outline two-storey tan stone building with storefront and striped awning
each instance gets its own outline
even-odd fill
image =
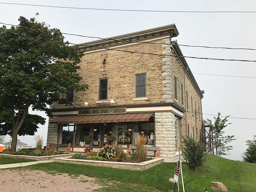
[[[178,35],[171,24],[79,44],[84,55],[78,73],[89,90],[67,90],[73,105],[50,106],[47,144],[71,143],[72,151],[110,143],[126,149],[143,134],[148,146],[160,147],[160,157],[172,159],[182,135],[201,139],[204,91],[172,41]]]

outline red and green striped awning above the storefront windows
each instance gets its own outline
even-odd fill
[[[53,119],[50,124],[86,124],[86,123],[112,123],[148,121],[153,113],[126,113],[113,115],[87,115],[87,116],[60,116]]]

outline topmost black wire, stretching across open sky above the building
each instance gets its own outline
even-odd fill
[[[64,7],[64,6],[51,6],[51,5],[36,5],[36,4],[19,4],[19,3],[3,3],[12,5],[28,5],[38,7],[54,7],[66,9],[85,9],[85,10],[99,10],[99,11],[125,11],[125,12],[179,12],[179,13],[256,13],[256,11],[164,11],[164,10],[137,10],[137,9],[103,9],[103,8],[85,8],[85,7]]]

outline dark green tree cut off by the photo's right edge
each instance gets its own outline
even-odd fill
[[[253,140],[246,140],[246,145],[248,148],[243,153],[243,160],[249,163],[256,163],[256,135],[254,135]]]

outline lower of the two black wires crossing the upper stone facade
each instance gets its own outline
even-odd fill
[[[3,31],[0,30],[2,32],[8,32],[8,33],[12,33],[15,35],[20,35],[20,36],[27,36],[27,37],[31,37],[31,38],[36,38],[36,39],[42,39],[42,40],[47,40],[47,41],[54,41],[54,42],[59,42],[59,43],[63,43],[61,41],[56,41],[56,40],[52,40],[52,39],[44,39],[41,37],[35,37],[35,36],[28,36],[28,35],[23,35],[23,34],[19,34],[19,33],[13,33],[10,31]],[[93,47],[93,48],[99,48],[96,46],[92,46],[92,45],[81,45],[81,44],[74,44],[74,43],[70,43],[70,42],[64,42],[66,44],[73,44],[73,45],[77,45],[77,46],[86,46],[86,47]],[[256,60],[236,60],[236,59],[220,59],[220,58],[206,58],[206,57],[191,57],[191,56],[176,56],[176,55],[168,55],[168,54],[156,54],[156,53],[147,53],[147,52],[133,52],[133,51],[126,51],[126,50],[120,50],[120,49],[110,49],[110,48],[105,48],[105,47],[100,47],[99,49],[106,49],[106,50],[112,50],[112,51],[121,51],[121,52],[128,52],[128,53],[138,53],[138,54],[148,54],[148,55],[156,55],[156,56],[168,56],[168,57],[177,57],[177,58],[192,58],[192,59],[205,59],[205,60],[219,60],[219,61],[244,61],[244,62],[256,62]]]

